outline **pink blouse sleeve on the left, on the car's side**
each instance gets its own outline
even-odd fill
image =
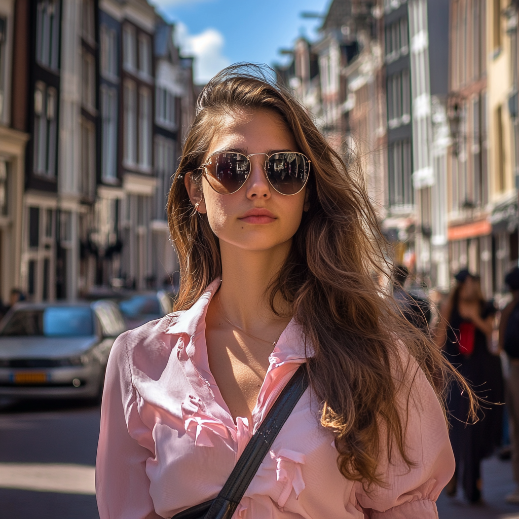
[[[127,332],[116,339],[106,367],[95,463],[100,519],[160,517],[149,495],[146,460],[155,455],[151,431],[137,410],[128,360],[130,334]]]

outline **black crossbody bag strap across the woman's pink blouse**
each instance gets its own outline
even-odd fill
[[[260,428],[249,440],[220,494],[211,501],[197,504],[175,514],[171,519],[230,519],[260,468],[272,442],[307,387],[306,365],[302,364],[281,391]]]

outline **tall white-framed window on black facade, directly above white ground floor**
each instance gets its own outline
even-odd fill
[[[57,91],[37,81],[34,89],[34,173],[56,176]]]

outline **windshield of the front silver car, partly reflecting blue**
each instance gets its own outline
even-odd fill
[[[88,307],[49,307],[16,310],[0,335],[80,337],[93,335],[92,310]]]

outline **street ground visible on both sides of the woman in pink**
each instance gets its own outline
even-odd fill
[[[0,403],[0,519],[99,518],[99,411],[77,401]],[[483,481],[484,505],[441,495],[440,519],[519,519],[519,506],[504,502],[514,488],[510,461],[485,460]]]

